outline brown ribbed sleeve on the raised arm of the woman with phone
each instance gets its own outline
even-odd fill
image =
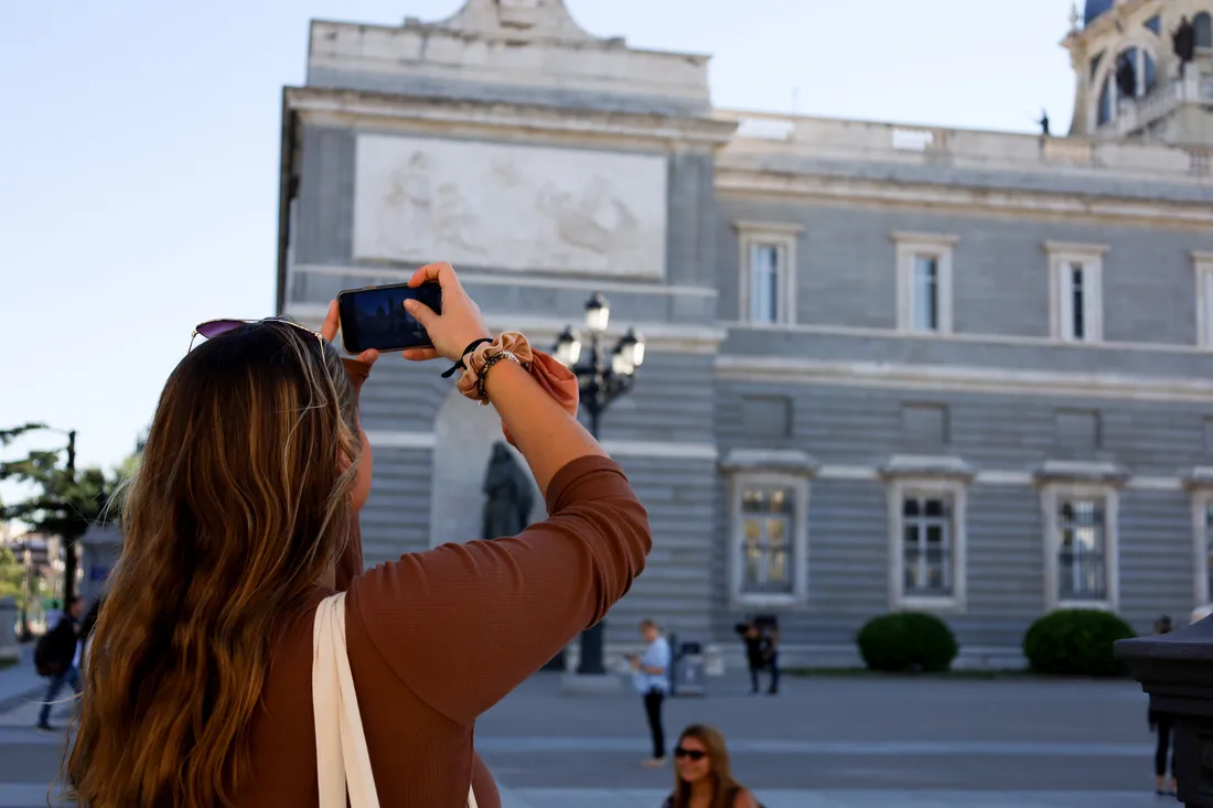
[[[400,681],[471,723],[594,625],[653,546],[622,470],[581,457],[547,490],[551,517],[517,536],[410,553],[357,579],[347,609]]]

